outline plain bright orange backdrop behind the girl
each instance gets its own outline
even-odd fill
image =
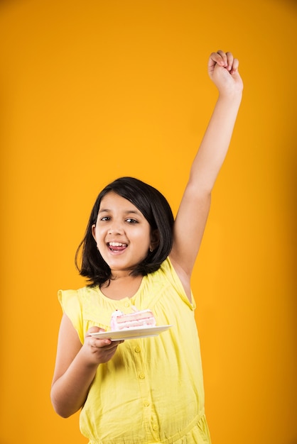
[[[244,99],[193,277],[213,444],[296,444],[296,1],[11,0],[0,6],[0,444],[86,443],[50,382],[60,288],[99,190],[173,211],[216,91]],[[133,421],[133,418],[131,418]]]

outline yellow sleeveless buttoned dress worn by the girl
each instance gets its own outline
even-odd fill
[[[91,326],[110,330],[116,309],[151,309],[158,326],[152,338],[126,340],[99,365],[80,413],[89,444],[210,444],[204,411],[195,303],[190,304],[169,259],[142,279],[133,297],[114,301],[98,287],[60,290],[63,311],[84,342]]]

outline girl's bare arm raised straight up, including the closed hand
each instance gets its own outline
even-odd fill
[[[175,220],[170,254],[188,296],[190,275],[205,229],[212,188],[225,160],[242,99],[243,84],[238,65],[231,52],[223,51],[212,52],[208,62],[208,73],[219,96],[190,170]]]

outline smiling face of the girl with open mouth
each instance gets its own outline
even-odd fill
[[[92,235],[113,275],[133,270],[158,245],[158,236],[141,211],[114,192],[102,199]]]

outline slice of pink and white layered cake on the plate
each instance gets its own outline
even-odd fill
[[[112,331],[126,330],[127,328],[137,327],[154,327],[156,319],[153,312],[147,310],[137,310],[132,306],[133,313],[124,314],[122,311],[116,310],[112,313],[110,328]]]

